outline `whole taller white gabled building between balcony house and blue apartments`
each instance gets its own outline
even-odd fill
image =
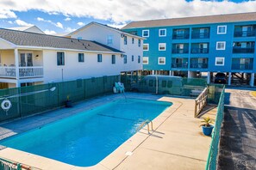
[[[143,39],[140,36],[123,32],[97,22],[91,22],[66,37],[97,41],[105,46],[113,47],[123,53],[122,71],[134,72],[142,70]],[[139,61],[139,62],[138,62]]]

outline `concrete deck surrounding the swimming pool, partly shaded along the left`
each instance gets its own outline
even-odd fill
[[[203,136],[198,127],[200,119],[194,118],[194,100],[133,93],[128,93],[127,97],[170,101],[173,105],[153,119],[150,134],[147,134],[145,126],[96,166],[75,167],[9,148],[0,150],[0,157],[40,169],[204,169],[211,138]],[[123,96],[103,96],[80,102],[73,108],[0,124],[0,139],[39,128],[118,98]],[[215,109],[209,115],[215,117]]]

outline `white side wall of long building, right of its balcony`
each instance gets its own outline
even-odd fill
[[[71,81],[94,76],[114,76],[122,71],[122,58],[116,54],[116,64],[111,63],[112,54],[104,54],[103,62],[97,62],[97,53],[84,53],[84,63],[78,62],[78,52],[65,52],[65,65],[57,65],[58,51],[43,51],[44,83]],[[63,77],[63,79],[62,79]]]

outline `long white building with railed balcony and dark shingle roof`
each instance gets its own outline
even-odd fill
[[[142,46],[136,50],[142,56]],[[124,52],[97,41],[0,28],[0,88],[141,70],[142,62],[126,59]]]

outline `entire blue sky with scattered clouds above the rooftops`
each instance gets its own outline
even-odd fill
[[[254,0],[1,0],[0,27],[36,25],[46,33],[70,33],[91,21],[122,27],[129,21],[254,11]]]

